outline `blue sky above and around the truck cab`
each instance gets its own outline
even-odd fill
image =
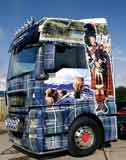
[[[112,35],[116,86],[126,86],[125,0],[0,0],[0,79],[5,79],[14,32],[29,17],[84,19],[105,17]]]

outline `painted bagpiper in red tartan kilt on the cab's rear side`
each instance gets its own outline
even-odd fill
[[[99,30],[100,27],[95,24],[85,25],[85,43],[87,44],[88,62],[91,70],[91,88],[95,90],[97,101],[96,112],[107,112],[106,98],[108,95],[113,96],[111,59],[109,55],[111,49],[109,35]]]

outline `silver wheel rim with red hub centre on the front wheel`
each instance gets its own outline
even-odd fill
[[[92,128],[84,126],[76,130],[74,139],[80,149],[88,149],[94,144],[95,134]]]

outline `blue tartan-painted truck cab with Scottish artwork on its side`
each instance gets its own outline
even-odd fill
[[[15,146],[36,155],[86,156],[117,139],[105,18],[28,20],[9,53],[5,124]]]

